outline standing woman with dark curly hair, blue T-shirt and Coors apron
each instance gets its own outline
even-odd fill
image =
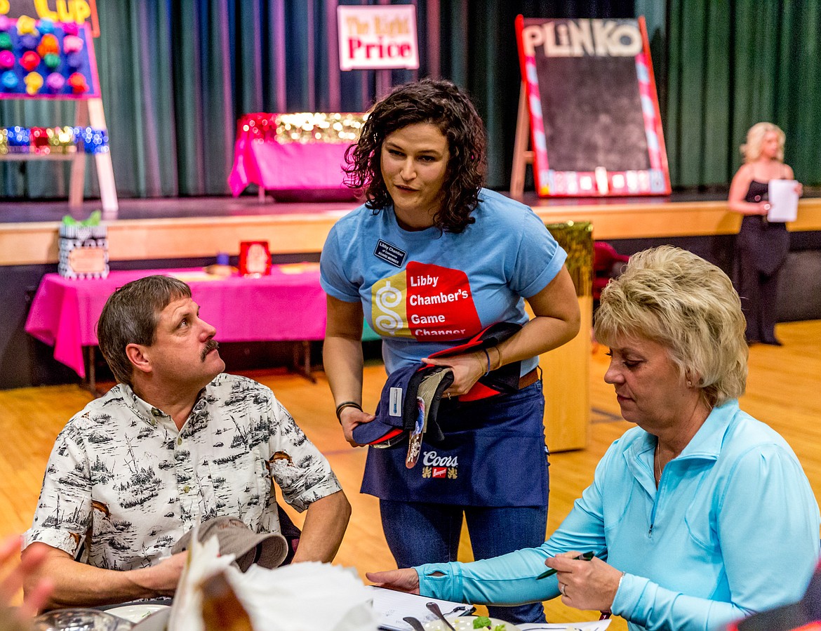
[[[389,375],[423,363],[452,371],[438,406],[444,439],[422,443],[422,466],[406,466],[408,449],[369,449],[362,492],[380,500],[399,567],[456,560],[463,516],[477,559],[544,541],[548,461],[536,366],[540,353],[576,335],[579,308],[566,253],[544,223],[482,188],[486,144],[456,85],[399,86],[374,105],[348,150],[346,183],[364,192],[365,205],[340,219],[323,247],[323,358],[352,446],[360,446],[354,429],[374,420],[361,408],[363,315],[383,339]],[[431,357],[496,323],[522,326],[492,348]],[[502,366],[512,371],[510,388],[480,398],[488,392],[479,379]],[[544,620],[539,603],[496,613]]]

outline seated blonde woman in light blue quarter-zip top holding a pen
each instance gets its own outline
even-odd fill
[[[819,507],[790,446],[738,407],[745,320],[727,275],[670,246],[602,292],[604,379],[637,427],[542,546],[475,563],[369,574],[472,603],[562,602],[631,629],[722,629],[794,602],[819,558]],[[587,562],[574,557],[593,552]],[[536,578],[548,568],[557,573]]]

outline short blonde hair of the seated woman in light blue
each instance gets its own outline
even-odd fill
[[[730,279],[691,252],[661,246],[634,254],[602,291],[594,333],[616,346],[649,339],[701,389],[710,406],[744,394],[747,343],[741,300]]]

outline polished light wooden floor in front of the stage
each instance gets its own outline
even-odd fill
[[[821,320],[779,325],[781,348],[757,345],[750,348],[750,378],[741,407],[767,422],[796,450],[817,497],[821,497]],[[630,425],[618,420],[612,387],[603,374],[607,357],[594,350],[590,375],[593,425],[589,448],[551,456],[548,532],[552,532],[591,481],[595,463]],[[365,463],[364,449],[351,449],[333,416],[333,400],[321,372],[317,382],[283,372],[250,373],[273,388],[310,439],[328,456],[353,505],[351,525],[337,555],[338,564],[365,571],[394,567],[378,518],[378,503],[360,495]],[[365,409],[373,409],[384,380],[381,365],[368,366],[365,374]],[[0,391],[0,535],[22,532],[30,525],[40,481],[53,440],[74,412],[89,401],[77,386]],[[296,517],[297,523],[301,518]],[[464,544],[461,558],[470,559]],[[548,619],[592,619],[562,606],[547,605]],[[626,629],[614,620],[611,629]]]

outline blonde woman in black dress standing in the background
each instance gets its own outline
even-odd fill
[[[794,179],[784,164],[786,136],[772,122],[759,122],[747,131],[741,145],[744,164],[730,184],[729,207],[744,215],[736,239],[737,283],[741,307],[747,321],[747,343],[763,342],[781,346],[775,337],[778,273],[790,251],[787,225],[770,222],[768,186],[770,180]],[[796,192],[802,193],[800,184]]]

